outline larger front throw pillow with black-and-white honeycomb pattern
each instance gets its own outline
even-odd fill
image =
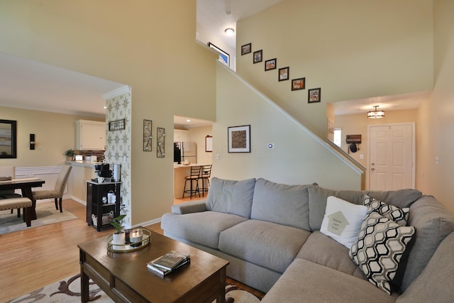
[[[348,255],[373,285],[391,294],[390,281],[415,231],[413,226],[400,226],[372,211],[362,222]]]

